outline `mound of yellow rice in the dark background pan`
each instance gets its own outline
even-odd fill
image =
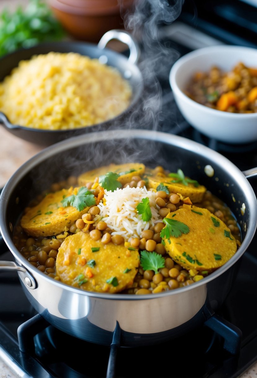
[[[75,129],[122,113],[132,90],[113,67],[77,53],[22,60],[0,83],[0,111],[13,124]]]

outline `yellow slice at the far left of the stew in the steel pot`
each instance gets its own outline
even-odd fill
[[[63,207],[64,196],[76,194],[78,188],[62,189],[49,193],[33,208],[30,208],[21,218],[21,227],[31,236],[58,235],[67,231],[81,215],[88,212],[89,207],[78,211],[73,206]]]

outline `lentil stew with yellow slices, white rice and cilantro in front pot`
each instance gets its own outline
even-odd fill
[[[241,243],[231,210],[181,169],[110,164],[52,185],[14,228],[15,246],[55,280],[100,293],[191,285]]]

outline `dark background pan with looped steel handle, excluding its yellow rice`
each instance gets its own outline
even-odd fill
[[[113,39],[119,40],[128,46],[128,57],[106,48],[107,43]],[[129,118],[132,110],[135,110],[136,107],[138,107],[143,91],[142,74],[136,65],[139,59],[140,50],[138,42],[132,37],[132,35],[124,30],[109,30],[99,40],[98,45],[78,41],[48,42],[41,43],[40,45],[28,49],[17,50],[0,59],[0,81],[2,81],[5,76],[9,75],[12,69],[17,67],[21,60],[30,59],[37,54],[47,54],[50,51],[59,53],[79,53],[94,59],[99,59],[100,62],[115,67],[121,73],[122,77],[128,80],[132,87],[132,99],[129,107],[115,118],[100,124],[78,129],[44,130],[22,125],[14,125],[2,112],[0,112],[0,125],[2,124],[8,132],[15,136],[44,147],[75,135],[122,127],[122,122],[124,122],[125,118]],[[24,101],[26,101],[26,99]]]

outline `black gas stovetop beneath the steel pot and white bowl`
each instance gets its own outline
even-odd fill
[[[251,38],[247,37],[249,25],[243,23],[244,17],[250,15],[251,22],[256,24],[257,18],[252,16],[256,14],[256,8],[243,4],[244,13],[240,13],[237,10],[240,9],[240,1],[233,2],[234,8],[231,7],[232,2],[226,2],[225,6],[218,1],[210,2],[207,12],[206,7],[201,5],[202,2],[195,2],[200,7],[197,19],[192,17],[192,3],[185,2],[185,11],[174,25],[164,26],[162,43],[165,48],[177,51],[177,57],[194,48],[216,43],[257,46],[252,34]],[[216,14],[216,24],[211,19],[211,12]],[[234,19],[226,23],[224,28],[222,20],[229,14],[233,14]],[[236,28],[239,21],[240,27]],[[197,33],[191,33],[192,26]],[[184,32],[181,33],[181,30]],[[256,30],[252,29],[254,33]],[[184,41],[181,40],[182,34]],[[158,78],[162,85],[164,103],[157,129],[184,136],[217,150],[241,170],[257,166],[257,143],[226,145],[208,139],[188,125],[177,109],[174,111],[175,105],[167,80],[170,68],[171,62]],[[170,101],[173,101],[173,106],[170,106]],[[257,180],[251,178],[250,183],[256,191]],[[13,260],[5,245],[0,246],[0,260]],[[115,343],[106,347],[61,332],[32,308],[16,273],[1,273],[0,358],[17,376],[24,378],[239,377],[257,361],[256,271],[255,236],[241,259],[239,273],[217,313],[215,325],[210,327],[206,322],[179,339],[136,348],[119,348]]]

